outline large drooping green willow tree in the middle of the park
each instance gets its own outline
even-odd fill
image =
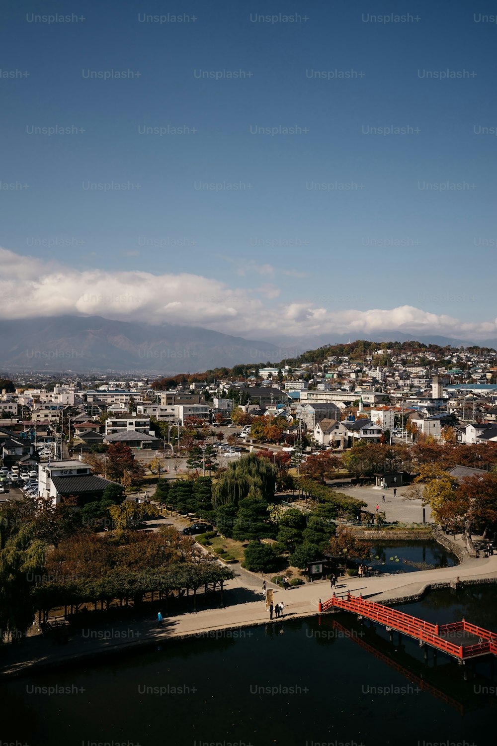
[[[212,490],[212,505],[236,505],[247,497],[273,501],[277,469],[256,454],[229,464]]]

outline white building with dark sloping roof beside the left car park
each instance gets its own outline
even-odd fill
[[[39,494],[57,505],[63,497],[77,498],[78,505],[101,500],[104,489],[115,484],[92,474],[80,461],[54,461],[38,465]]]

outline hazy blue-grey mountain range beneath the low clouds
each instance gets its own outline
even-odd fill
[[[475,342],[399,331],[367,333],[373,342],[469,346]],[[142,372],[194,373],[239,363],[277,363],[322,345],[348,342],[349,334],[244,339],[203,327],[118,322],[102,316],[55,316],[0,321],[0,368],[3,372]],[[497,347],[497,339],[478,340]]]

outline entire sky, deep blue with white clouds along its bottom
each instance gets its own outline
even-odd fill
[[[32,15],[57,13],[75,19]],[[495,13],[486,1],[7,2],[0,288],[28,302],[6,315],[493,336]],[[375,20],[390,14],[408,19]],[[29,75],[5,77],[15,71]],[[133,77],[91,77],[115,71]],[[462,77],[429,77],[446,71]],[[34,129],[50,127],[72,134]],[[388,127],[405,130],[372,134]],[[95,280],[136,299],[85,305]]]

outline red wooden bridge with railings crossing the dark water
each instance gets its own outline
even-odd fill
[[[467,621],[455,621],[452,624],[431,624],[429,621],[418,619],[402,611],[390,609],[389,606],[366,601],[362,595],[352,596],[350,593],[344,598],[333,594],[329,601],[319,602],[320,612],[328,611],[332,607],[352,612],[359,617],[371,619],[383,624],[387,630],[420,640],[420,645],[430,645],[431,648],[443,651],[458,658],[460,662],[486,656],[497,655],[497,634],[469,624]],[[457,641],[459,644],[456,645]],[[460,643],[463,643],[462,645]]]

